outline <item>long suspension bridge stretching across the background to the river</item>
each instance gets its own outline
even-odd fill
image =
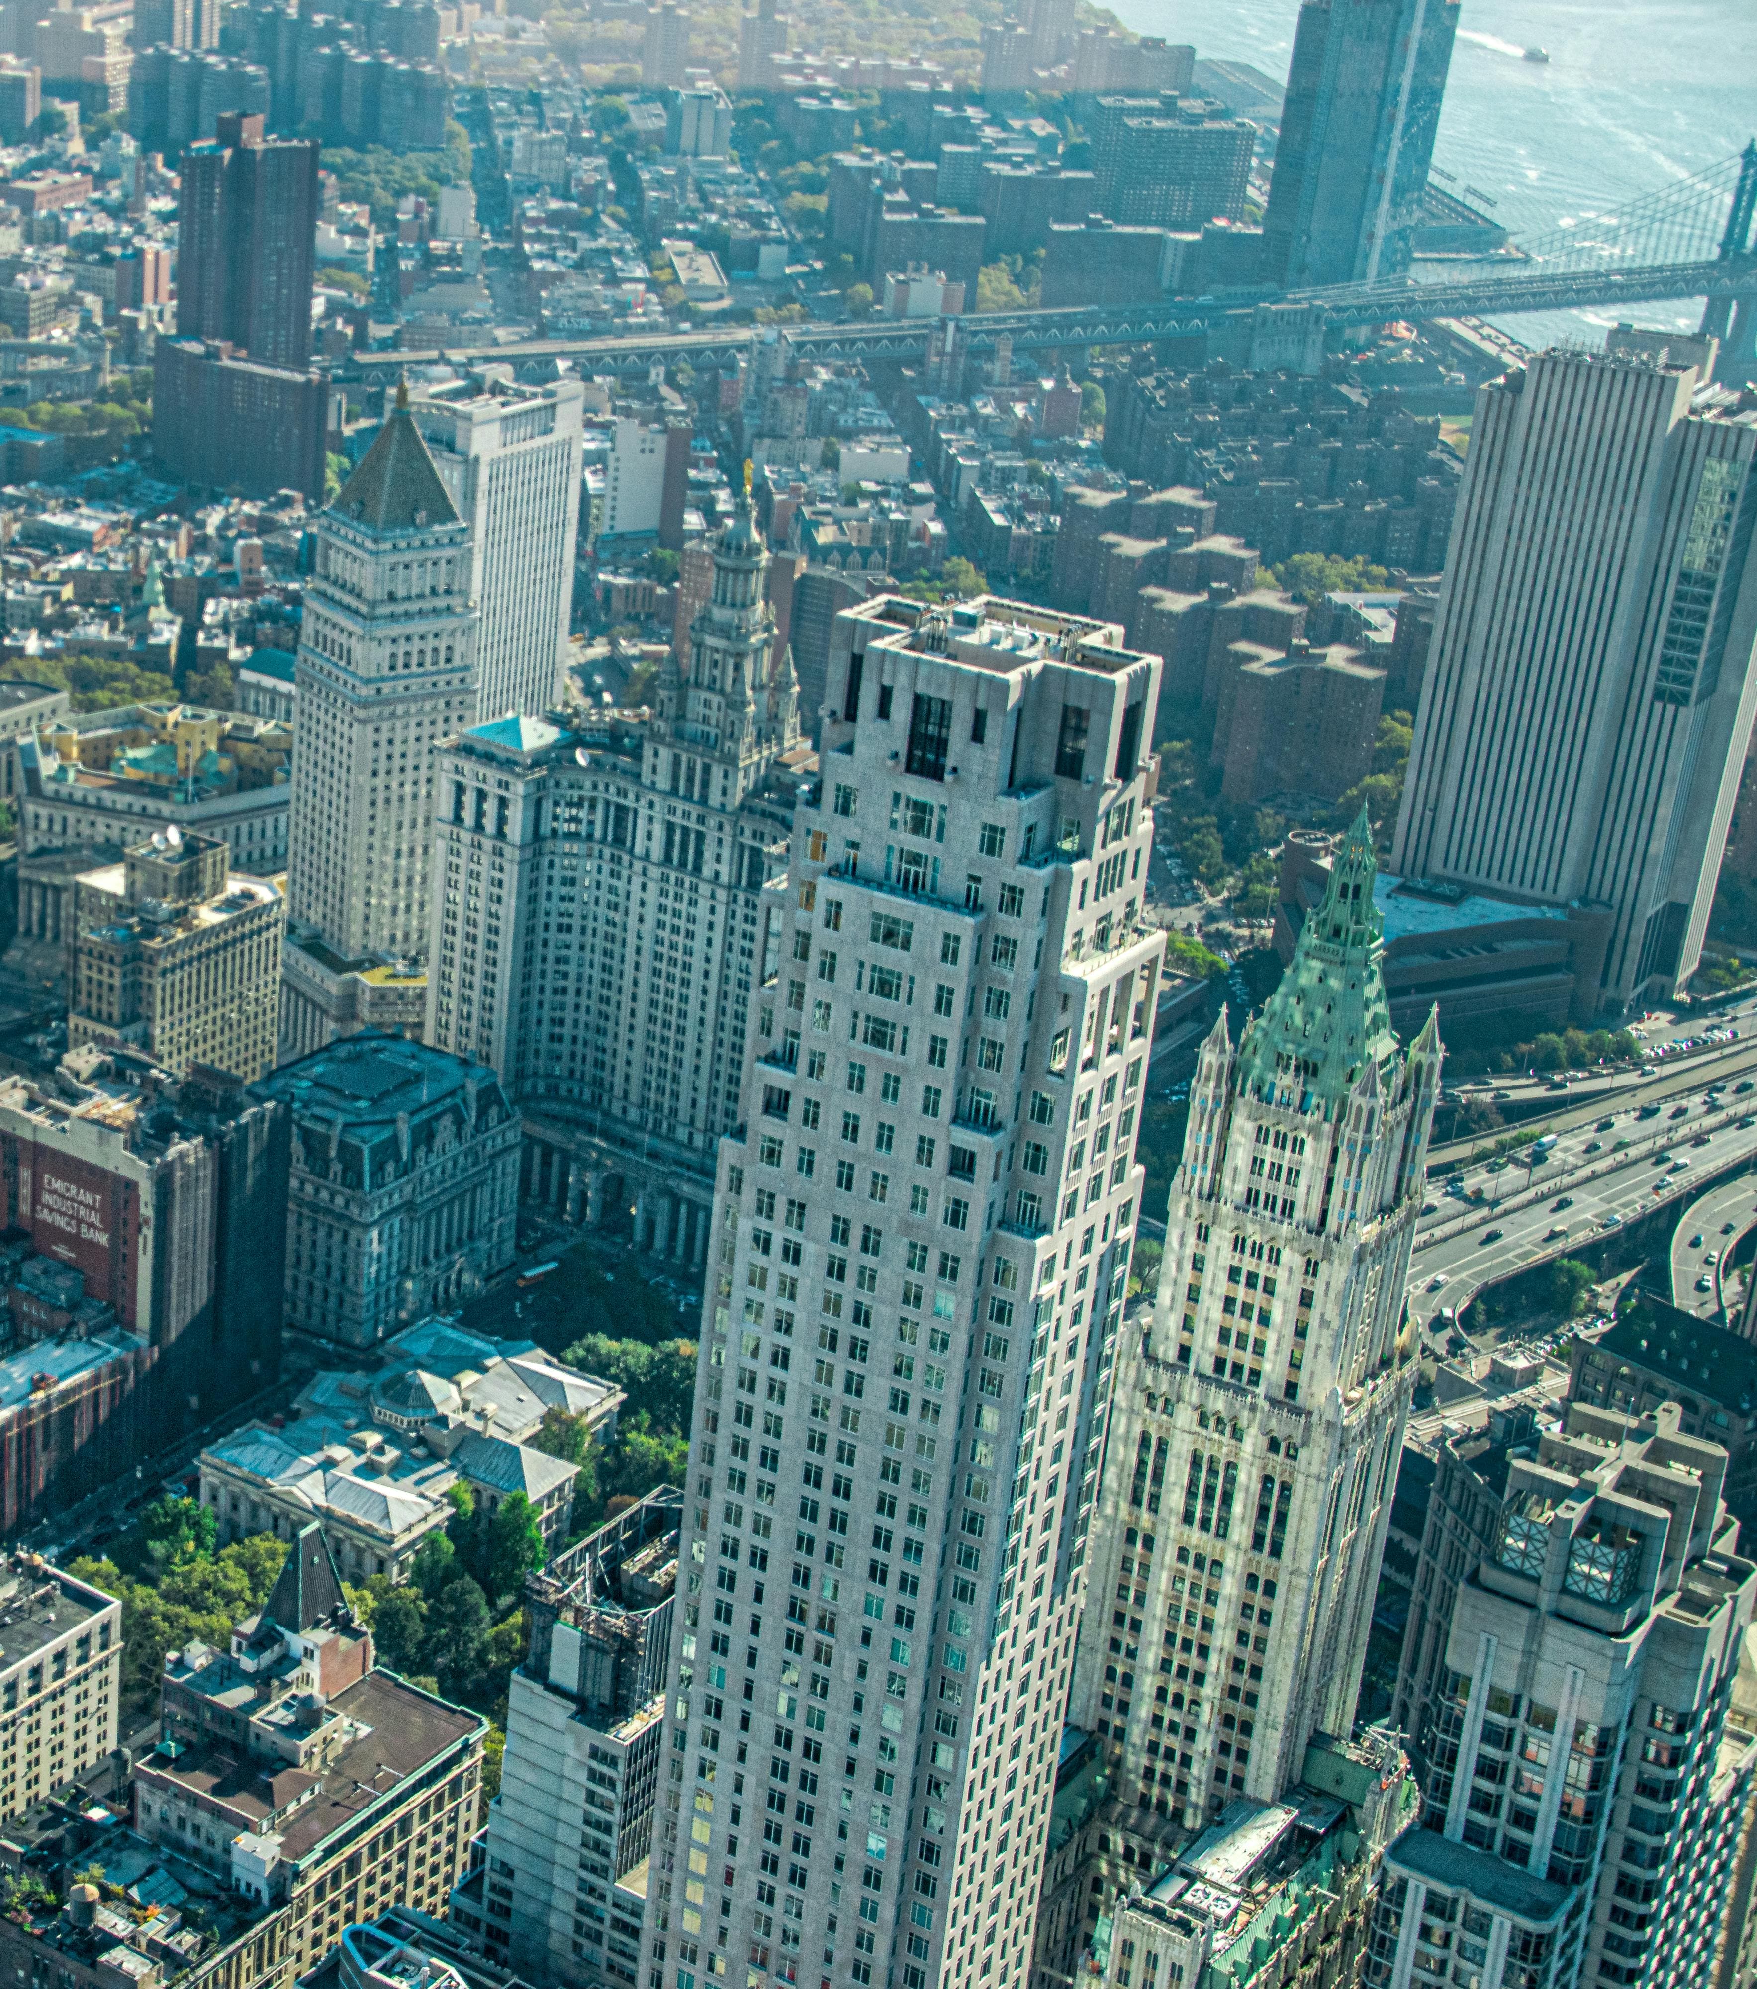
[[[1616,308],[1667,298],[1705,298],[1703,332],[1721,340],[1721,376],[1757,378],[1757,139],[1687,179],[1628,205],[1582,213],[1570,225],[1526,237],[1512,253],[1463,269],[1421,265],[1415,274],[1319,290],[1258,290],[1168,296],[1144,304],[1082,304],[1069,310],[991,310],[961,318],[862,318],[792,324],[782,336],[816,360],[919,362],[1013,352],[1073,352],[1090,346],[1160,344],[1242,330],[1266,304],[1321,312],[1325,326],[1389,320],[1506,318],[1520,312]],[[1244,322],[1242,322],[1244,320]],[[430,352],[354,352],[352,378],[434,360],[495,360],[535,372],[567,358],[589,372],[635,376],[688,362],[696,370],[748,358],[774,334],[748,326],[667,330],[633,338],[541,338]],[[949,370],[949,368],[947,368]]]

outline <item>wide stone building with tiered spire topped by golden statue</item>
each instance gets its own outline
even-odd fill
[[[802,780],[768,555],[740,499],[645,736],[539,718],[442,754],[428,1040],[525,1106],[537,1195],[706,1255],[738,1116],[760,909]]]

